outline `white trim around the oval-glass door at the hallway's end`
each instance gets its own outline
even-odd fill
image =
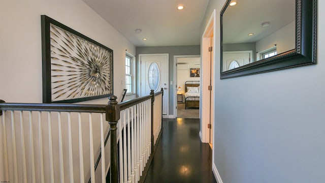
[[[141,76],[142,76],[142,73],[141,73],[141,56],[166,56],[167,57],[167,68],[166,68],[166,74],[167,74],[167,92],[164,91],[164,96],[166,96],[167,98],[167,111],[166,111],[166,115],[163,115],[163,118],[168,118],[169,117],[169,53],[154,53],[154,54],[145,54],[145,53],[141,53],[138,55],[138,60],[139,60],[139,73],[140,73],[140,96],[142,95],[142,88],[141,88]],[[161,83],[162,84],[162,83]]]

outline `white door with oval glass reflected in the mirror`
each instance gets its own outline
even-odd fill
[[[228,71],[251,63],[252,51],[224,51],[222,71]]]

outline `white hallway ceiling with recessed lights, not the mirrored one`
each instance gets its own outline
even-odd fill
[[[135,46],[200,45],[209,0],[83,0]],[[183,10],[177,10],[183,5]],[[140,34],[136,29],[142,29]],[[143,41],[147,38],[147,41]]]

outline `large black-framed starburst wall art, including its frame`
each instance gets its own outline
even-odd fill
[[[113,50],[42,15],[43,103],[113,94]]]

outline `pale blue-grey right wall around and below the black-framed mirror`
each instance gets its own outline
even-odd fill
[[[224,3],[210,0],[201,24],[203,33],[216,9],[216,50]],[[325,182],[325,2],[317,4],[317,65],[220,80],[216,57],[213,166],[223,182]]]

